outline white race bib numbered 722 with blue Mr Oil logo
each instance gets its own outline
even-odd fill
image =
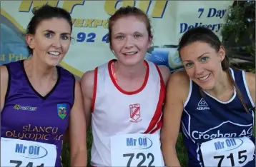
[[[163,166],[157,134],[124,134],[111,138],[112,166]]]

